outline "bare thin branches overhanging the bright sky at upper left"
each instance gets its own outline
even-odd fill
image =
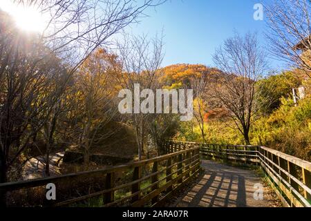
[[[144,10],[165,0],[12,0],[47,18],[41,41],[53,54],[72,64],[72,71],[111,36],[144,16]],[[73,57],[75,59],[73,59]]]

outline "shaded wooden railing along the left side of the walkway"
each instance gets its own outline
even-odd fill
[[[97,171],[8,182],[0,184],[0,191],[7,198],[17,196],[17,198],[34,199],[23,200],[26,202],[21,206],[90,206],[94,201],[96,206],[160,206],[173,191],[189,182],[199,171],[199,148],[192,146],[170,151],[167,155],[149,160]],[[77,180],[79,180],[78,185],[84,185],[87,180],[94,177],[97,183],[100,180],[97,188],[92,188],[91,193],[83,195],[75,193],[79,189],[79,186],[75,185],[78,183]],[[90,185],[94,182],[89,180]],[[46,184],[49,183],[56,186],[56,200],[44,200]],[[12,205],[16,206],[14,203]]]

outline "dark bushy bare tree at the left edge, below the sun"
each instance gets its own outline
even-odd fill
[[[8,167],[44,126],[44,116],[50,115],[63,88],[59,85],[59,90],[45,93],[59,77],[58,61],[53,55],[42,59],[47,49],[36,38],[27,39],[17,31],[0,32],[0,157],[1,182],[6,182]]]

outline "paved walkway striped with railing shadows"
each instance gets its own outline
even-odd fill
[[[172,206],[177,207],[269,207],[270,188],[264,187],[263,200],[254,199],[255,184],[262,184],[254,171],[202,160],[205,172],[179,197]]]

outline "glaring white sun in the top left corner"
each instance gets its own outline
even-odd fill
[[[45,28],[44,16],[34,6],[16,5],[10,0],[1,0],[0,9],[8,12],[18,28],[27,32],[42,32]]]

